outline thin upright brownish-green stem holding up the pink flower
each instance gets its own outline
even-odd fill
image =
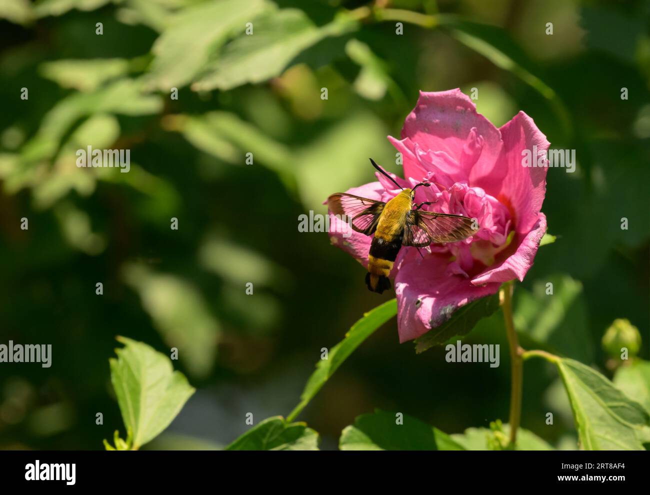
[[[500,303],[503,310],[503,319],[506,325],[506,335],[510,344],[510,374],[512,385],[510,388],[510,445],[515,446],[517,442],[517,430],[521,422],[521,396],[523,385],[523,352],[519,346],[519,339],[512,322],[512,283],[505,283],[500,289]]]

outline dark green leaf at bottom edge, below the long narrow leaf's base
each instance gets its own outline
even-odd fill
[[[246,431],[226,450],[318,450],[318,433],[305,423],[273,416]]]

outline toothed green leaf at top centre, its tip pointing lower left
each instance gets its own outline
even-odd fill
[[[304,49],[326,36],[338,36],[356,23],[335,19],[317,27],[302,10],[276,10],[253,22],[252,34],[241,34],[224,48],[192,90],[229,90],[246,82],[279,75]]]

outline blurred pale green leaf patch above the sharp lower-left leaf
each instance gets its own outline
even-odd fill
[[[151,272],[143,264],[125,266],[123,277],[140,294],[164,341],[178,349],[188,372],[205,377],[213,366],[220,325],[200,290],[175,275]]]

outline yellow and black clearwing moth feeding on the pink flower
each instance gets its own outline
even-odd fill
[[[330,212],[350,219],[352,229],[367,236],[374,235],[365,282],[369,290],[382,294],[391,288],[388,277],[402,246],[426,247],[454,242],[473,235],[478,229],[473,228],[472,218],[422,210],[432,201],[414,205],[415,190],[420,186],[429,187],[430,183],[421,182],[412,189],[404,189],[374,160],[370,159],[370,163],[402,192],[387,203],[337,192],[328,197],[327,203]]]

